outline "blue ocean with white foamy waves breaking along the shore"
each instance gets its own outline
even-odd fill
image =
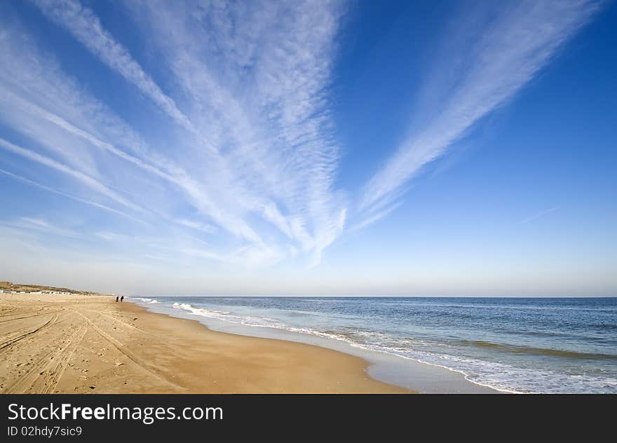
[[[504,392],[617,393],[617,298],[131,299],[209,326],[243,325],[243,334],[266,328],[345,342]]]

